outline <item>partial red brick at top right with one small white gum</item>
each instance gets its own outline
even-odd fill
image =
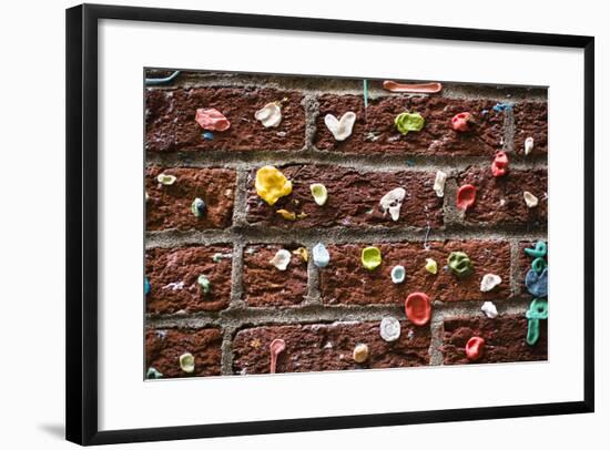
[[[525,154],[525,142],[533,137],[533,151],[530,155],[548,152],[548,110],[546,102],[520,102],[514,108],[515,151]]]

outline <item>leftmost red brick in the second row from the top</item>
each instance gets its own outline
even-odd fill
[[[160,185],[161,173],[174,175],[172,185]],[[228,168],[146,168],[146,229],[226,228],[233,217],[235,171]],[[195,198],[205,202],[207,211],[195,217],[191,205]]]

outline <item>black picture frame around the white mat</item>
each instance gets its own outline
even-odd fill
[[[98,22],[116,19],[582,49],[584,358],[581,401],[100,431],[98,428]],[[82,4],[67,10],[67,397],[69,441],[90,446],[593,412],[594,39],[399,23]]]

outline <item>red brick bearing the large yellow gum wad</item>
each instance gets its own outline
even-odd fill
[[[430,225],[438,228],[444,225],[443,198],[437,197],[433,190],[436,172],[364,172],[331,165],[288,165],[278,168],[292,181],[293,192],[279,198],[274,206],[267,205],[256,195],[256,171],[252,171],[247,200],[247,221],[251,224],[283,228],[373,225],[419,228]],[[328,190],[324,206],[314,202],[309,191],[313,183],[322,183]],[[400,217],[396,222],[389,214],[384,216],[379,207],[379,200],[395,187],[407,191]],[[277,209],[305,213],[307,216],[287,221],[276,213]]]

